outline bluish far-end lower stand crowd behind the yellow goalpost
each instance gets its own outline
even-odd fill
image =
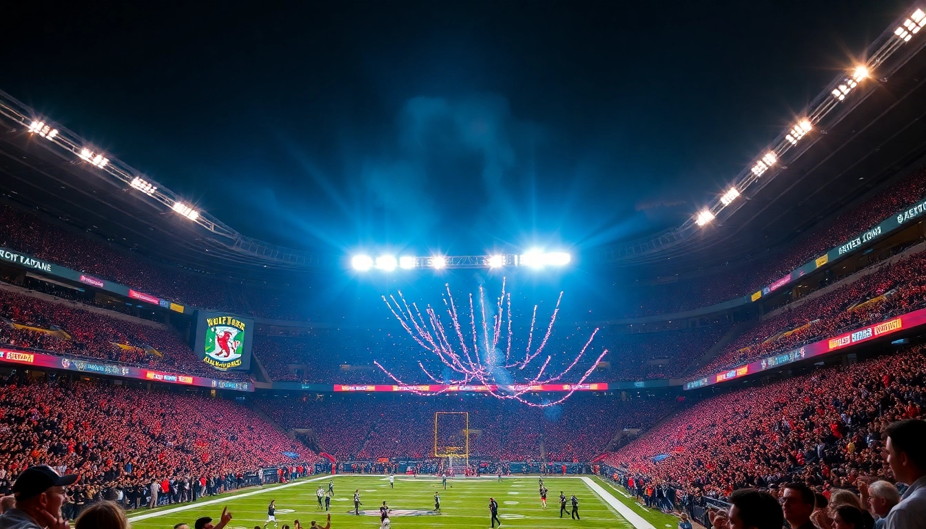
[[[285,428],[310,429],[319,451],[338,460],[430,457],[434,414],[467,411],[472,457],[541,460],[545,455],[546,460],[582,462],[601,453],[622,429],[644,428],[673,404],[666,397],[623,401],[584,394],[545,409],[494,397],[457,395],[257,399],[257,405]],[[602,417],[608,418],[607,424],[601,422]],[[465,442],[455,440],[461,447]]]

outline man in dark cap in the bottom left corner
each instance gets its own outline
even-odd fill
[[[16,507],[0,516],[0,529],[69,529],[61,508],[68,500],[67,486],[79,477],[58,475],[47,465],[24,470],[13,484]]]

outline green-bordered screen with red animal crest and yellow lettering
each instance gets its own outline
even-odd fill
[[[218,371],[251,369],[254,319],[200,310],[196,315],[196,354]]]

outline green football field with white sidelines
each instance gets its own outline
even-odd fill
[[[489,497],[498,502],[498,514],[505,527],[531,527],[536,529],[576,526],[587,529],[675,529],[677,519],[653,510],[635,505],[614,487],[588,477],[548,477],[544,485],[550,490],[547,509],[540,506],[537,494],[537,476],[505,478],[499,483],[494,478],[456,479],[447,481],[447,489],[441,480],[421,476],[414,479],[396,476],[395,488],[389,488],[388,478],[383,476],[334,476],[334,497],[332,500],[332,529],[349,527],[379,527],[379,506],[385,500],[395,512],[391,516],[392,526],[397,529],[422,527],[489,527]],[[315,490],[319,485],[326,489],[328,476],[319,480],[301,480],[286,485],[268,485],[264,489],[250,488],[213,498],[204,498],[194,504],[161,507],[156,510],[137,510],[130,513],[132,527],[136,529],[170,529],[175,523],[185,522],[193,526],[200,516],[211,516],[218,523],[223,507],[232,512],[229,527],[253,529],[267,521],[267,505],[276,499],[277,529],[283,524],[293,526],[298,519],[304,527],[311,520],[324,524],[325,513],[318,510]],[[451,486],[452,485],[452,486]],[[356,516],[353,510],[354,489],[360,489],[361,512],[368,515]],[[557,498],[559,491],[567,497],[575,494],[579,498],[581,521],[559,518]],[[433,513],[433,496],[441,495],[441,513]],[[609,503],[610,502],[610,503]],[[403,512],[406,511],[406,512]],[[405,515],[403,515],[405,514]],[[496,525],[497,526],[497,525]],[[268,528],[272,528],[270,523]]]

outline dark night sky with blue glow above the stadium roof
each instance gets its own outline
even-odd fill
[[[0,89],[245,235],[461,255],[681,222],[910,4],[18,5]]]

